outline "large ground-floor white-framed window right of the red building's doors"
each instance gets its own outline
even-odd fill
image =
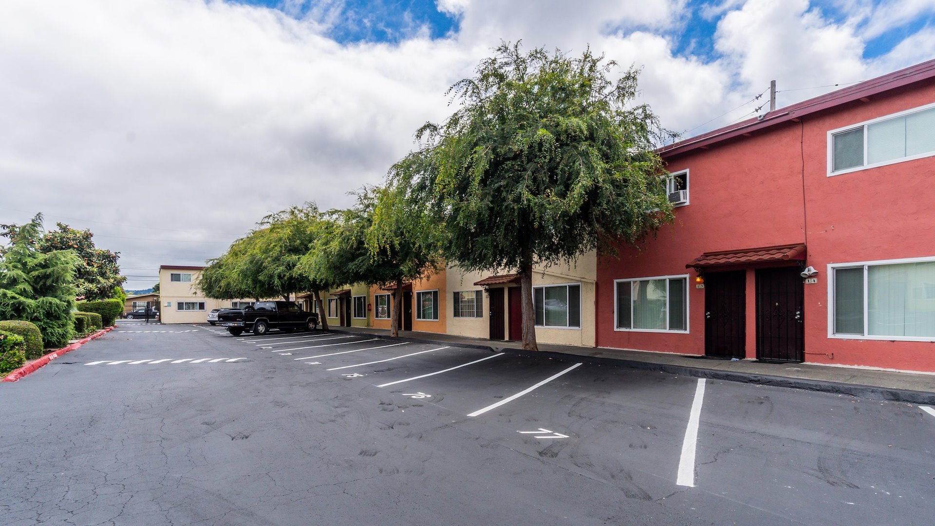
[[[935,256],[828,265],[828,337],[935,342]]]

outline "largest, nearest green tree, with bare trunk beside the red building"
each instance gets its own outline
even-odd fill
[[[638,71],[611,80],[615,67],[590,50],[502,43],[450,89],[460,108],[424,124],[390,172],[446,231],[449,260],[522,276],[525,349],[538,348],[534,266],[616,255],[672,219],[654,153],[667,132],[637,101]]]

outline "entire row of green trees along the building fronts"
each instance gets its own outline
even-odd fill
[[[655,148],[672,134],[636,103],[638,70],[586,50],[502,43],[449,90],[458,110],[424,124],[416,148],[347,210],[314,204],[266,216],[211,260],[211,298],[260,298],[365,283],[395,291],[441,261],[513,271],[523,289],[523,346],[535,350],[533,268],[592,250],[615,256],[672,220]],[[325,322],[326,328],[326,322]]]

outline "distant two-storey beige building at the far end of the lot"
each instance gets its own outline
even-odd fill
[[[163,323],[206,323],[212,309],[240,307],[253,300],[210,300],[194,284],[204,267],[159,267],[159,317]]]

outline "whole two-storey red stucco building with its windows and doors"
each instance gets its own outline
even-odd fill
[[[676,222],[599,258],[598,346],[935,372],[935,60],[660,153]]]

